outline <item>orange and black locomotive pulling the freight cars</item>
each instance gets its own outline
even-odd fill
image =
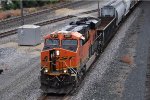
[[[79,18],[63,30],[44,37],[41,52],[42,87],[61,88],[78,82],[92,63],[91,60],[100,52],[97,46],[100,42],[95,41],[100,22],[93,17]]]

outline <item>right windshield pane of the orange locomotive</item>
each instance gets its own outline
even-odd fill
[[[77,40],[62,40],[62,48],[64,49],[75,52],[77,50],[77,45]]]

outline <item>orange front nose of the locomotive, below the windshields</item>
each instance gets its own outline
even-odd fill
[[[77,67],[76,53],[62,48],[54,48],[42,53],[44,72],[52,75],[67,74],[69,68]]]

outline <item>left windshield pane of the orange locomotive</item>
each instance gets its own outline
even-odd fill
[[[46,39],[44,49],[52,49],[59,48],[59,40],[58,39]]]

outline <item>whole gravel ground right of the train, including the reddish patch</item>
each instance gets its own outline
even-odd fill
[[[82,82],[73,100],[145,100],[150,2],[129,16]]]

